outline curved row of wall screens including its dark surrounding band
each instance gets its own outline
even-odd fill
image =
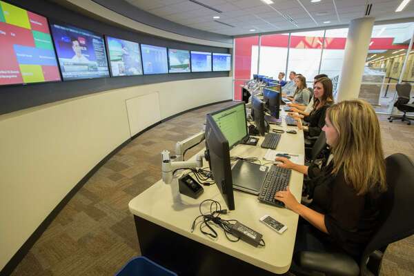
[[[0,114],[126,86],[228,77],[232,61],[227,48],[151,37],[46,1],[0,1],[0,51]]]

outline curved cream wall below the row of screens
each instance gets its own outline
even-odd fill
[[[151,105],[142,103],[148,99]],[[231,77],[192,79],[108,90],[0,116],[0,270],[61,199],[131,135],[159,119],[228,99]]]

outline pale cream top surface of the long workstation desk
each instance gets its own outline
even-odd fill
[[[282,126],[277,126],[277,128],[297,130],[297,127],[286,126],[284,119],[282,121]],[[260,148],[263,139],[264,137],[260,137],[257,146],[236,146],[230,150],[230,156],[259,157],[259,159],[262,159],[266,153],[266,149]],[[290,135],[285,132],[282,134],[276,150],[301,155],[303,161],[303,132],[297,130],[297,135]],[[262,161],[262,163],[266,162]],[[207,163],[204,165],[208,166]],[[268,164],[268,166],[271,166],[271,164]],[[300,199],[302,195],[302,182],[303,175],[293,171],[289,186],[290,191],[297,199]],[[160,180],[145,190],[144,193],[132,199],[129,203],[129,208],[133,215],[147,219],[179,235],[193,239],[196,242],[215,248],[273,273],[285,273],[292,261],[298,215],[285,208],[259,203],[255,195],[235,190],[234,196],[235,210],[230,211],[226,215],[220,215],[220,217],[224,219],[237,219],[242,224],[262,233],[263,239],[266,242],[265,247],[255,248],[242,241],[236,243],[229,242],[224,236],[223,230],[218,227],[215,229],[219,235],[217,239],[200,233],[198,225],[193,233],[190,232],[193,219],[199,215],[199,204],[204,199],[215,199],[220,202],[222,208],[226,208],[224,199],[215,185],[204,186],[204,193],[198,199],[192,199],[179,193],[177,177],[173,179],[171,184],[165,184],[164,181]],[[282,235],[279,235],[259,221],[259,218],[263,215],[270,215],[282,222],[282,224],[285,224],[288,229]]]

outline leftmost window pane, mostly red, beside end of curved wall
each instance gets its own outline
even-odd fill
[[[235,100],[242,99],[242,86],[257,74],[259,37],[239,37],[235,39]]]

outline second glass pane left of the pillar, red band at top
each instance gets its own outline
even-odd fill
[[[288,72],[304,75],[308,86],[318,75],[323,41],[324,30],[293,32],[290,35]]]

